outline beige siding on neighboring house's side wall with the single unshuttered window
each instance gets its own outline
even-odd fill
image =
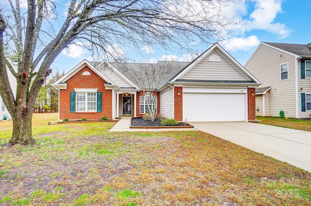
[[[280,65],[288,63],[289,79],[281,80]],[[245,68],[261,83],[261,87],[271,86],[270,110],[266,116],[279,116],[281,110],[287,117],[296,117],[295,100],[295,58],[274,48],[260,45]]]

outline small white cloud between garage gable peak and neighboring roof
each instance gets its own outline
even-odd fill
[[[247,38],[241,37],[233,37],[229,40],[223,42],[223,46],[226,50],[236,51],[236,50],[244,50],[247,51],[251,48],[257,47],[260,41],[257,36],[249,36]]]

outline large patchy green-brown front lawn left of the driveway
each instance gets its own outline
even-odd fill
[[[311,206],[310,173],[200,131],[48,121],[0,147],[1,206]]]

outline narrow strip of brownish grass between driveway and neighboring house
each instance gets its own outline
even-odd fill
[[[258,123],[264,125],[286,127],[311,132],[311,120],[301,120],[294,118],[285,119],[280,117],[260,117],[260,116],[257,116],[256,119],[261,121]]]

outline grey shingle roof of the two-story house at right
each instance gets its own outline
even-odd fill
[[[283,43],[271,43],[264,42],[276,48],[283,49],[299,56],[311,56],[311,43],[307,45],[302,44],[283,44]]]

